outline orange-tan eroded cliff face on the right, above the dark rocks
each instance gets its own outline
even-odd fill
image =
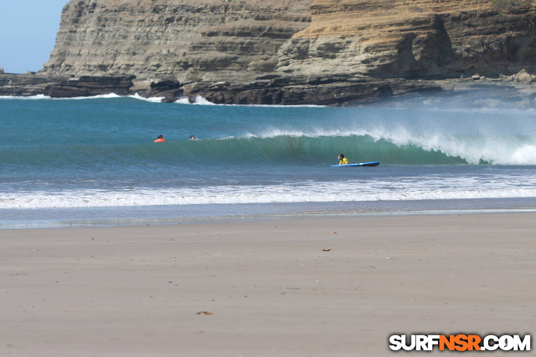
[[[285,73],[453,78],[536,69],[535,9],[515,0],[315,0]]]

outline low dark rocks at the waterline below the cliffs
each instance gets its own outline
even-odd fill
[[[276,76],[234,83],[196,81],[187,84],[163,80],[152,82],[148,86],[135,86],[132,79],[134,78],[0,75],[0,95],[44,94],[53,98],[71,98],[108,93],[138,93],[146,97],[162,97],[167,102],[183,96],[193,99],[201,95],[211,102],[225,104],[345,106],[377,101],[386,96],[440,90],[435,83],[427,81],[353,76]]]

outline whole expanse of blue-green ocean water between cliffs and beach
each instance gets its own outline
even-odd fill
[[[339,153],[381,165],[329,167]],[[536,110],[478,94],[352,108],[0,98],[0,228],[531,211],[535,173]]]

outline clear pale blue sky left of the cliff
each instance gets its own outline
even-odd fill
[[[39,71],[54,49],[69,0],[0,0],[0,67],[5,73]]]

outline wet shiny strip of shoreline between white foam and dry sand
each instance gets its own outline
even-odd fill
[[[355,204],[354,207],[352,207],[352,204]],[[359,207],[356,205],[359,205]],[[355,218],[450,214],[511,214],[536,211],[534,197],[192,206],[198,205],[3,209],[4,217],[9,218],[0,220],[0,230],[62,227],[129,227],[138,225],[196,224],[222,221],[270,221],[318,217]],[[307,207],[307,210],[304,207]],[[215,214],[215,212],[226,212],[226,214]],[[21,219],[21,217],[24,217],[24,219]]]

